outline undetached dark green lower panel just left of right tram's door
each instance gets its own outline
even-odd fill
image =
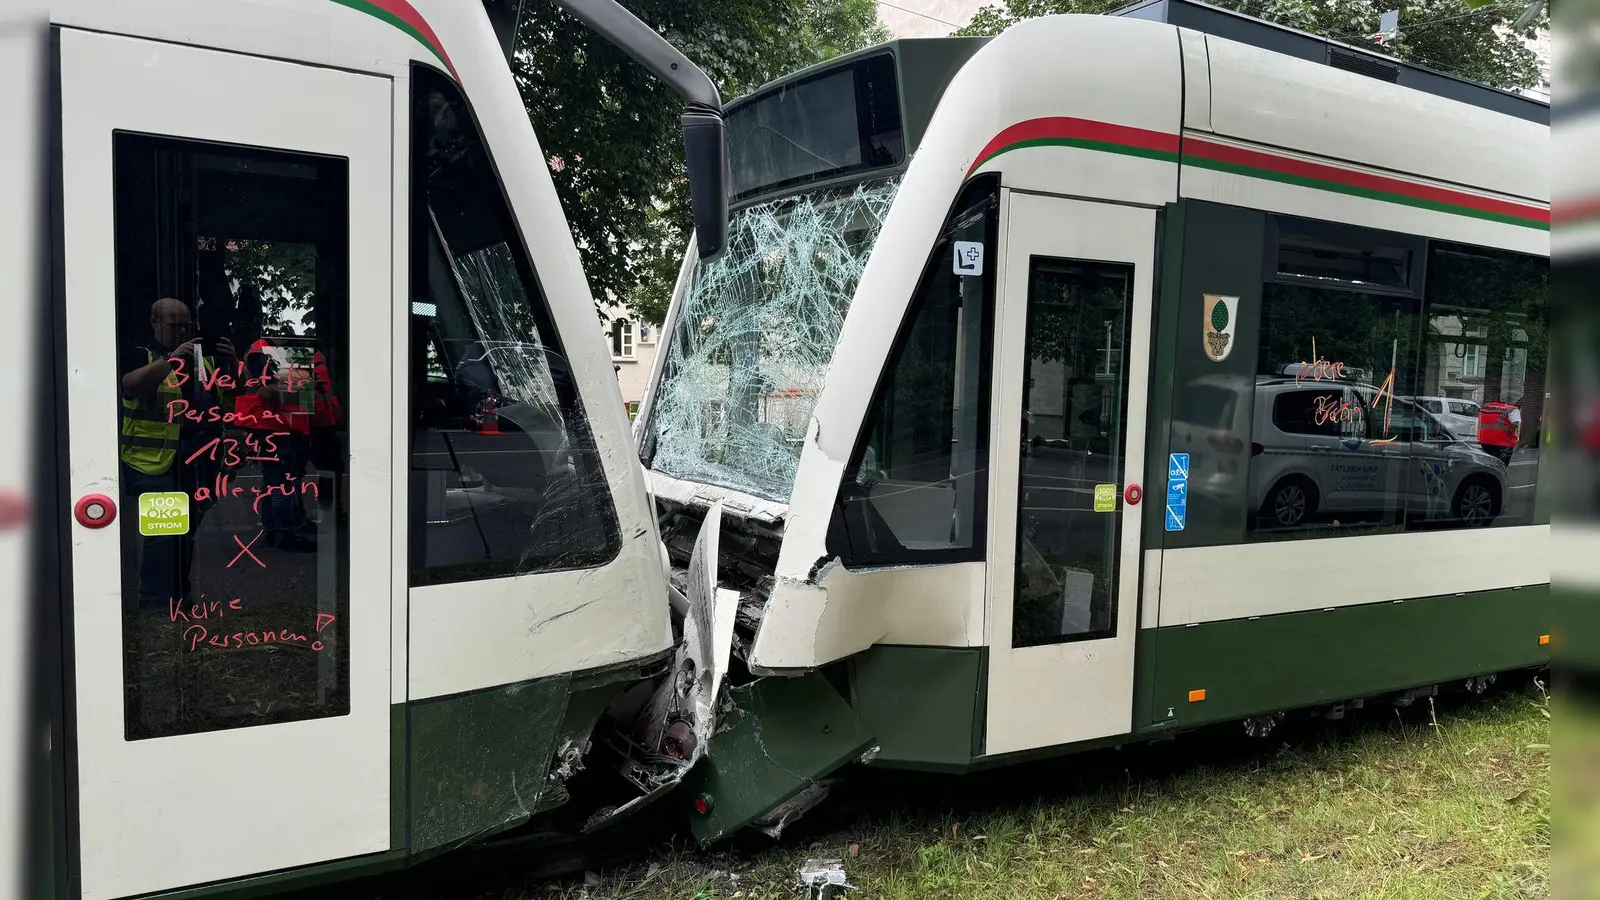
[[[960,772],[982,738],[982,647],[878,645],[851,658],[856,714],[874,765]]]

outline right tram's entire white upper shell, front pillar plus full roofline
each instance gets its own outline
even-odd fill
[[[835,609],[877,599],[813,573],[829,570],[827,524],[872,399],[864,386],[877,383],[970,175],[1000,170],[1013,191],[1134,205],[1202,195],[1549,253],[1549,232],[1526,224],[1190,167],[1187,149],[1179,157],[1186,136],[1270,152],[1288,170],[1314,162],[1355,173],[1357,184],[1379,176],[1466,203],[1510,203],[1534,219],[1549,203],[1549,128],[1533,122],[1160,22],[1046,16],[1014,26],[950,82],[862,272],[802,450],[754,665],[818,666],[896,633],[894,613]],[[842,628],[846,620],[856,625]]]

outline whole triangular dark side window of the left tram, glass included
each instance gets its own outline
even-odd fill
[[[589,420],[461,91],[413,67],[411,585],[605,564]]]

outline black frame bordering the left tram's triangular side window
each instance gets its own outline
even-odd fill
[[[549,291],[542,279],[539,279],[539,271],[533,264],[533,256],[528,253],[528,235],[522,229],[522,221],[517,218],[510,195],[506,192],[506,179],[501,175],[501,167],[494,159],[493,149],[490,147],[488,136],[483,131],[483,120],[477,109],[472,106],[472,99],[467,91],[461,86],[456,78],[443,72],[437,66],[429,66],[421,61],[411,61],[410,66],[410,83],[406,93],[406,187],[410,192],[406,202],[406,293],[405,304],[406,311],[418,299],[418,290],[427,291],[429,285],[429,242],[434,240],[434,215],[427,205],[427,173],[424,167],[418,165],[419,160],[427,159],[427,147],[424,144],[426,133],[416,127],[416,102],[419,91],[429,90],[429,83],[435,83],[446,91],[456,94],[459,101],[459,109],[466,112],[466,122],[461,125],[472,128],[482,144],[483,159],[488,165],[488,171],[493,176],[494,189],[499,195],[498,210],[501,215],[501,227],[506,234],[506,245],[510,251],[512,259],[517,264],[517,275],[528,293],[528,307],[533,315],[534,325],[539,330],[539,340],[547,357],[566,359],[566,349],[562,341],[560,328],[555,325],[555,317],[550,311]],[[445,234],[438,235],[440,242],[445,242],[448,231],[440,224],[440,231]],[[446,250],[454,253],[445,243]],[[405,359],[405,391],[406,391],[406,477],[411,472],[411,444],[414,442],[414,429],[418,423],[416,408],[416,392],[413,391],[413,365],[416,359],[413,356],[414,341],[406,341],[406,359]],[[571,365],[568,364],[568,372]],[[605,549],[594,554],[589,559],[574,560],[571,564],[562,565],[534,565],[531,569],[518,569],[514,572],[464,572],[461,565],[445,567],[443,572],[448,577],[442,578],[418,578],[419,572],[429,572],[426,565],[419,565],[416,559],[419,552],[418,536],[426,525],[419,527],[416,509],[413,508],[416,498],[413,490],[406,490],[406,585],[410,588],[424,586],[445,586],[445,585],[470,585],[478,581],[490,581],[498,578],[520,578],[526,575],[549,575],[555,572],[586,572],[603,569],[614,562],[622,554],[622,527],[616,511],[614,490],[610,479],[605,474],[605,466],[602,463],[603,453],[600,450],[600,440],[594,432],[592,416],[584,404],[582,391],[578,388],[576,376],[566,380],[555,380],[554,389],[557,391],[558,404],[562,405],[562,413],[565,416],[581,416],[581,428],[574,429],[571,421],[563,421],[563,431],[568,440],[573,444],[573,452],[592,453],[595,463],[594,484],[590,484],[590,492],[598,492],[600,496],[595,498],[595,514],[602,517],[600,525],[606,535]],[[581,440],[579,440],[581,437]]]

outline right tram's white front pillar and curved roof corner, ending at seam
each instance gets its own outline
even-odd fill
[[[1003,168],[1005,184],[1014,189],[1149,207],[1170,203],[1178,199],[1176,160],[1099,152],[1070,141],[1166,135],[1176,144],[1181,77],[1178,30],[1170,26],[1109,16],[1046,16],[984,45],[950,82],[840,330],[802,450],[792,493],[797,500],[789,504],[778,583],[757,634],[755,665],[814,666],[898,631],[896,617],[885,612],[850,617],[870,628],[821,626],[824,607],[835,599],[819,604],[822,588],[806,581],[826,556],[832,500],[872,402],[866,386],[878,381],[928,248],[944,227],[962,183],[974,167],[976,171]],[[1106,90],[1107,85],[1115,90]],[[1008,151],[1035,136],[1059,143],[1029,152]],[[840,599],[859,597],[837,588],[830,593]],[[950,612],[965,615],[965,604],[952,605]],[[938,613],[923,609],[917,615]]]

